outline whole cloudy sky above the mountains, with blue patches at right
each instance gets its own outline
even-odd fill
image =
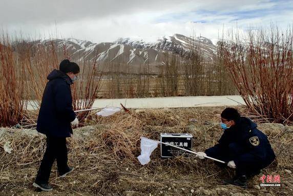
[[[0,0],[0,27],[10,33],[74,37],[95,43],[118,37],[181,33],[217,38],[236,28],[293,22],[293,0]]]

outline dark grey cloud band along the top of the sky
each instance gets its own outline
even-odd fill
[[[1,0],[0,25],[66,23],[125,14],[176,13],[195,10],[241,9],[264,6],[261,0]],[[268,2],[269,3],[269,2]]]

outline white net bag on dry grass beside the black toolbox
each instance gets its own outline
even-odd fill
[[[152,152],[158,147],[158,141],[150,140],[147,138],[140,138],[141,153],[137,157],[141,165],[145,165],[151,161]]]

